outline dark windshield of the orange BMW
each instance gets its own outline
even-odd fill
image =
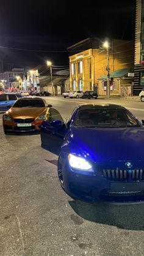
[[[18,100],[13,104],[13,108],[44,108],[43,100]]]

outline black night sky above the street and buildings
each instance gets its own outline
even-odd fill
[[[68,65],[67,47],[87,37],[134,40],[135,2],[1,0],[0,60],[23,68],[47,59]]]

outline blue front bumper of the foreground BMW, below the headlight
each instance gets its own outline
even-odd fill
[[[65,192],[73,199],[86,202],[144,202],[144,181],[110,181],[101,172],[72,170],[68,163],[62,169]]]

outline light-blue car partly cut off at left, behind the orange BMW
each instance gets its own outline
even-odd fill
[[[0,95],[0,111],[7,111],[18,98],[22,98],[23,95],[20,93],[2,93]]]

